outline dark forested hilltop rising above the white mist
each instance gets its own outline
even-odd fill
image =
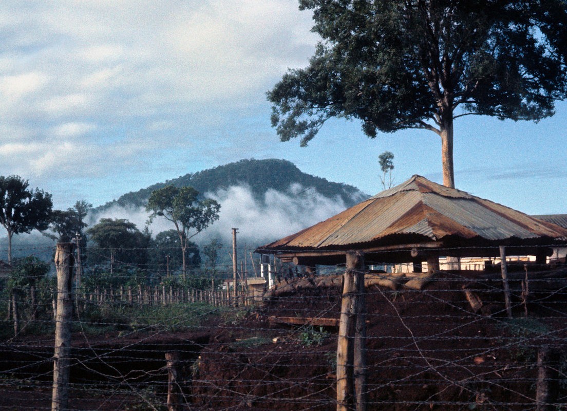
[[[235,185],[246,185],[251,190],[257,201],[262,201],[264,194],[269,189],[278,190],[282,193],[293,194],[290,192],[292,184],[300,184],[304,188],[314,188],[317,192],[328,198],[336,196],[342,198],[345,205],[350,207],[365,198],[356,187],[351,185],[332,183],[321,177],[312,176],[299,170],[295,164],[287,160],[240,160],[235,163],[225,164],[210,168],[208,170],[189,173],[165,183],[156,183],[150,187],[138,190],[137,192],[126,193],[118,200],[108,202],[98,207],[98,211],[108,209],[114,205],[122,207],[144,206],[150,193],[167,184],[176,187],[191,185],[201,193],[217,192],[218,190],[228,189]]]

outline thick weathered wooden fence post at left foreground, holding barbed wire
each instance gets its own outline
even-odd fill
[[[73,313],[73,256],[71,243],[57,243],[57,316],[53,355],[52,411],[65,411],[69,402],[69,366],[71,353],[71,315]]]

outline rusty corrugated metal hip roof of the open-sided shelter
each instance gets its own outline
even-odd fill
[[[543,238],[567,241],[567,229],[414,175],[257,251],[346,249],[377,241],[401,244],[410,237],[421,241],[481,239],[490,243],[516,239],[534,244],[534,240]]]

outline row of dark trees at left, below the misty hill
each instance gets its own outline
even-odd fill
[[[88,259],[100,271],[113,274],[152,268],[167,274],[180,272],[185,278],[188,268],[201,264],[199,248],[191,238],[217,221],[220,208],[217,201],[201,198],[192,187],[167,185],[151,193],[146,210],[148,223],[164,218],[172,224],[171,230],[152,238],[147,226],[140,231],[136,224],[118,218],[102,218],[87,229],[85,218],[92,209],[87,201],[77,201],[66,210],[53,209],[51,194],[29,188],[28,180],[20,176],[0,176],[0,224],[7,233],[9,265],[14,262],[12,237],[38,230],[53,240],[72,241],[81,259]],[[205,247],[207,266],[214,268],[220,247],[218,240]]]

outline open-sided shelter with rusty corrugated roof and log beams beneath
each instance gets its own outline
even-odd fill
[[[567,228],[414,175],[327,220],[256,252],[295,264],[336,265],[347,251],[367,262],[433,263],[439,256],[535,255],[567,244]]]

